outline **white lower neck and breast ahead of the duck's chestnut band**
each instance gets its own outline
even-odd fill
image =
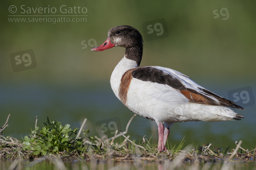
[[[116,65],[114,71],[111,74],[110,84],[111,88],[114,91],[114,94],[119,99],[118,89],[122,79],[123,74],[132,68],[139,67],[136,61],[127,59],[126,57],[122,58],[122,60]],[[119,99],[120,100],[120,99]]]

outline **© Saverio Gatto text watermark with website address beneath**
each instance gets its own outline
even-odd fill
[[[9,6],[9,22],[86,22],[87,8],[61,5],[59,7]]]

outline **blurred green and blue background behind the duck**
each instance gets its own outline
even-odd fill
[[[11,14],[10,6],[17,12]],[[55,7],[57,12],[40,14],[20,13],[33,7]],[[86,14],[63,14],[60,6],[86,7]],[[110,76],[123,57],[124,48],[91,52],[101,45],[108,30],[129,25],[144,35],[142,24],[163,18],[168,37],[146,41],[141,66],[156,65],[175,69],[199,85],[228,99],[228,91],[250,86],[255,99],[256,22],[255,1],[4,1],[1,2],[0,27],[0,126],[11,114],[3,135],[18,139],[46,120],[69,123],[97,135],[96,123],[109,118],[120,118],[122,129],[133,115],[114,95]],[[228,11],[219,14],[221,8]],[[215,12],[214,12],[215,11]],[[226,15],[225,15],[226,14]],[[11,22],[8,15],[87,15],[86,22]],[[228,19],[227,16],[229,15]],[[61,16],[60,16],[61,17]],[[215,19],[214,19],[215,17]],[[58,18],[48,16],[47,18]],[[68,16],[67,18],[73,18]],[[75,18],[82,18],[76,16]],[[90,44],[85,47],[86,42]],[[94,44],[93,44],[94,43]],[[91,47],[90,47],[91,46]],[[14,72],[10,55],[32,49],[37,66]],[[251,93],[251,95],[253,95]],[[235,140],[243,140],[244,148],[254,148],[255,102],[235,111],[245,118],[228,122],[182,122],[170,129],[168,142],[179,143],[185,136],[186,144],[198,146],[212,143],[224,150],[235,147]],[[128,130],[138,142],[153,135],[157,143],[156,123],[136,116]]]

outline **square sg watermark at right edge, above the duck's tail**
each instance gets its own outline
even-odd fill
[[[253,89],[250,86],[228,91],[228,98],[242,107],[252,106],[255,104]]]

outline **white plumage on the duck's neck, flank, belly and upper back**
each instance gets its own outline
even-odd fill
[[[137,67],[135,61],[124,57],[112,72],[111,88],[119,100],[118,91],[123,74]],[[159,66],[153,67],[183,79],[187,82],[184,84],[186,87],[203,88],[178,71]],[[134,78],[129,85],[126,106],[140,116],[155,120],[157,124],[159,122],[234,120],[233,117],[236,115],[230,108],[224,106],[190,103],[184,95],[168,85]]]

